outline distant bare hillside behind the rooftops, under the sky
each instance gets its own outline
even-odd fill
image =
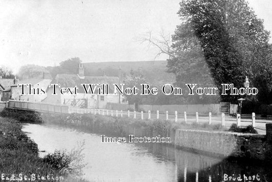
[[[151,84],[174,83],[175,75],[166,73],[167,61],[127,61],[127,62],[88,62],[83,63],[85,75],[89,76],[118,76],[121,67],[121,79],[130,76],[131,70],[139,72],[149,80]]]

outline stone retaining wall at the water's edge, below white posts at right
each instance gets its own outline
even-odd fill
[[[220,156],[265,159],[266,136],[261,134],[176,130],[175,145]]]

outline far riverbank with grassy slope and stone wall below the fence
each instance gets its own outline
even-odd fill
[[[6,109],[3,113],[16,116],[20,112],[28,111]],[[167,141],[170,140],[170,142],[165,142],[167,145],[205,155],[271,161],[272,147],[270,142],[266,140],[266,135],[230,132],[228,128],[224,128],[220,124],[136,120],[125,117],[92,115],[91,113],[62,115],[41,113],[37,116],[37,121],[82,128],[88,132],[107,135],[113,142],[114,138],[127,138],[129,140],[129,135],[143,139],[159,137],[167,139]],[[249,128],[251,130],[251,127]]]

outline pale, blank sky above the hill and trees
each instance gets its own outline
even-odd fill
[[[72,57],[83,62],[154,60],[158,50],[139,39],[148,32],[174,34],[181,22],[179,2],[0,1],[0,65],[17,73],[24,64],[54,66]],[[249,4],[272,32],[272,1]]]

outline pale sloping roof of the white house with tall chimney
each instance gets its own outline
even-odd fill
[[[51,82],[52,84],[60,84],[61,87],[78,87],[78,93],[85,93],[84,88],[81,84],[108,84],[109,93],[113,93],[113,84],[119,83],[118,77],[92,77],[85,76],[84,78],[79,78],[78,75],[74,74],[58,74],[55,79]],[[87,86],[88,88],[88,86]],[[97,89],[95,90],[97,93]]]

